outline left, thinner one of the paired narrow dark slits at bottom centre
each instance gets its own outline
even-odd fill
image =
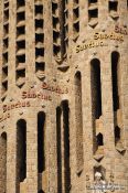
[[[62,110],[56,108],[56,147],[57,147],[57,193],[62,193],[62,136],[61,136]]]

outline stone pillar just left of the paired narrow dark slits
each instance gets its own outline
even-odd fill
[[[51,106],[46,114],[46,142],[47,148],[47,167],[49,167],[49,193],[56,193],[57,190],[57,158],[56,158],[56,109]],[[52,111],[52,114],[51,114]]]

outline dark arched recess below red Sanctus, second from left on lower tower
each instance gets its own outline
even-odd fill
[[[23,182],[26,178],[26,122],[23,119],[17,122],[17,158],[18,180]]]

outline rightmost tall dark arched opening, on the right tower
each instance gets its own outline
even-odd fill
[[[114,111],[119,109],[119,93],[118,93],[118,63],[119,54],[117,52],[111,53],[111,79],[113,79],[113,106]]]

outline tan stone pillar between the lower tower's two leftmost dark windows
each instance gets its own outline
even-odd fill
[[[17,126],[12,121],[10,125],[7,140],[7,193],[17,193]]]

